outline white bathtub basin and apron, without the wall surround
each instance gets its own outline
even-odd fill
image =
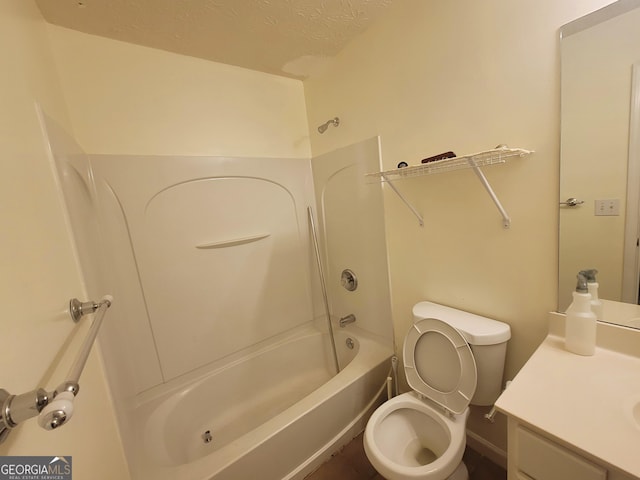
[[[364,429],[392,350],[309,325],[138,406],[135,480],[302,479]],[[350,344],[352,348],[349,348]]]

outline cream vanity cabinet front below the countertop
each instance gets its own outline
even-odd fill
[[[513,417],[508,420],[508,442],[509,480],[635,479],[585,458]]]

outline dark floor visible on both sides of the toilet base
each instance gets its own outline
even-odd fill
[[[503,468],[469,448],[465,451],[464,463],[469,470],[470,480],[507,478]],[[367,460],[360,434],[305,480],[384,480],[384,477]]]

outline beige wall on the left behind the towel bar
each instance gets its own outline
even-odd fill
[[[12,394],[55,388],[88,326],[74,328],[64,312],[71,297],[83,297],[83,285],[36,110],[37,102],[70,127],[47,41],[32,1],[0,0],[0,387]],[[68,425],[46,432],[35,419],[25,422],[0,455],[71,455],[74,478],[129,478],[95,352],[80,383]]]

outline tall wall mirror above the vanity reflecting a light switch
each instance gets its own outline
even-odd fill
[[[604,321],[640,328],[640,0],[561,29],[558,311],[598,270]]]

